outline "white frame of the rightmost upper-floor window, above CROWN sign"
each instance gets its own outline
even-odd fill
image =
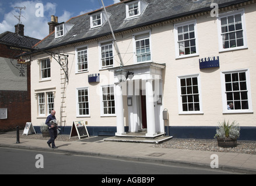
[[[241,14],[241,23],[242,23],[242,29],[243,29],[243,42],[244,42],[244,45],[241,46],[241,47],[223,48],[221,19],[223,17],[234,16],[234,15],[237,15],[237,14]],[[218,23],[219,52],[234,51],[234,50],[237,50],[237,49],[247,48],[246,19],[245,19],[244,9],[233,10],[232,12],[221,13],[219,15],[219,17],[217,18],[217,23]]]

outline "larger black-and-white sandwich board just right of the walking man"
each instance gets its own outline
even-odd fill
[[[78,135],[79,140],[81,139],[81,137],[90,137],[85,126],[85,121],[73,121],[69,139],[76,135]]]

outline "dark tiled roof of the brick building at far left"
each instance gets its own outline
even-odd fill
[[[39,41],[40,40],[36,38],[19,35],[17,33],[12,33],[10,31],[6,31],[5,33],[0,34],[0,43],[12,45],[15,47],[31,48],[34,45],[36,45]]]

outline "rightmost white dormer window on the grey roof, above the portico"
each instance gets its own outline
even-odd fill
[[[148,4],[142,0],[132,1],[126,5],[126,17],[127,19],[142,15]]]

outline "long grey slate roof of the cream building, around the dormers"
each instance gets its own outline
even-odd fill
[[[193,13],[209,11],[212,10],[211,3],[213,2],[212,0],[143,0],[148,5],[142,15],[133,19],[126,19],[125,4],[130,1],[134,0],[126,0],[106,7],[114,33]],[[218,3],[219,8],[222,8],[246,2],[246,0],[215,0],[214,2]],[[106,22],[101,27],[90,28],[90,15],[100,10],[103,10],[103,8],[69,19],[66,23],[73,24],[74,26],[64,37],[55,39],[53,32],[39,42],[36,48],[51,49],[111,34],[110,27]]]

